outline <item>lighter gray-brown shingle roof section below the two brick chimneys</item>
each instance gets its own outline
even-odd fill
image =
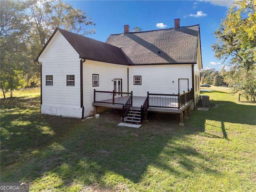
[[[120,47],[130,65],[196,63],[199,25],[112,34],[106,43]]]

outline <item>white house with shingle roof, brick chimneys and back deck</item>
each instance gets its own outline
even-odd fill
[[[120,108],[123,121],[147,111],[186,115],[200,95],[199,25],[112,34],[106,42],[57,28],[38,57],[41,113],[84,118]]]

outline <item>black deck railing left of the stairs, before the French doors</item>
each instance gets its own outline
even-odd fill
[[[94,89],[94,103],[125,104],[132,93],[113,91],[96,91]]]

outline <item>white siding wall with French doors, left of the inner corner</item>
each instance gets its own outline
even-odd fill
[[[93,114],[94,89],[113,91],[114,79],[122,79],[122,91],[127,92],[128,66],[86,60],[83,63],[84,116]],[[92,86],[92,74],[99,74],[99,86]]]

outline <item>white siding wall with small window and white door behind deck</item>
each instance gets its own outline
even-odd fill
[[[141,76],[141,85],[134,85],[134,76]],[[134,96],[146,96],[147,91],[178,94],[179,78],[188,78],[189,89],[192,88],[190,64],[129,66],[129,92],[133,91]]]

